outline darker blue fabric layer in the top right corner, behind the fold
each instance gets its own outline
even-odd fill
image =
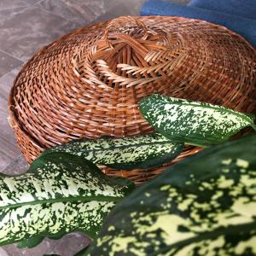
[[[191,0],[189,6],[256,20],[256,0]]]

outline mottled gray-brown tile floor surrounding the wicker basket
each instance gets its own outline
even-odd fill
[[[170,0],[169,0],[170,1]],[[0,0],[0,172],[25,172],[26,161],[15,143],[8,122],[8,96],[15,76],[45,44],[95,20],[138,15],[144,0]],[[173,2],[187,3],[188,0]],[[45,239],[38,247],[0,247],[0,256],[59,253],[70,256],[89,243],[80,234],[59,241]]]

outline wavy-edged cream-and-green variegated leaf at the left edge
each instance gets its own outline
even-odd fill
[[[115,204],[134,188],[67,153],[45,154],[25,174],[0,176],[0,246],[81,231],[94,238]]]

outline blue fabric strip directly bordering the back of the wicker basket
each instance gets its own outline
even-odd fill
[[[148,0],[143,4],[141,15],[181,16],[207,20],[215,24],[226,26],[230,30],[241,34],[242,37],[246,38],[248,42],[256,47],[256,20],[192,6],[184,6],[177,3],[166,3],[163,0]]]

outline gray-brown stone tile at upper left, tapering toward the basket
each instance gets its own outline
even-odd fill
[[[0,10],[1,49],[27,61],[45,44],[79,26],[75,21],[65,20],[35,6],[3,9]]]

